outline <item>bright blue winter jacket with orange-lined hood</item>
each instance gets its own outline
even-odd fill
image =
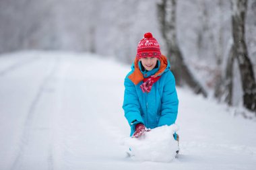
[[[162,59],[166,61],[165,68],[163,68]],[[135,71],[136,67],[138,67],[137,72]],[[135,73],[137,75],[133,75],[134,77],[143,75],[142,79],[156,74],[161,77],[154,83],[149,93],[143,93],[139,87],[143,81],[135,82],[131,79],[131,75]],[[137,79],[137,77],[135,78]],[[174,124],[177,119],[178,105],[175,79],[170,71],[170,62],[167,58],[162,56],[161,60],[158,60],[158,67],[152,71],[142,71],[140,62],[135,60],[131,66],[131,72],[125,77],[123,101],[125,118],[131,126],[130,136],[135,132],[135,125],[138,123],[144,124],[146,128]]]

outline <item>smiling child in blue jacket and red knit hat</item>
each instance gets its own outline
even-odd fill
[[[148,32],[139,41],[131,72],[125,77],[123,110],[131,126],[130,136],[139,138],[148,129],[174,124],[178,105],[170,63]],[[174,138],[179,140],[177,134]]]

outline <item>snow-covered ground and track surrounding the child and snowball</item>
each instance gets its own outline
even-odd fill
[[[128,71],[91,54],[0,56],[0,169],[255,169],[256,122],[179,88],[179,157],[127,157],[121,106]]]

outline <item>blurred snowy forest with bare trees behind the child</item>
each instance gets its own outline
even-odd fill
[[[177,85],[256,110],[255,0],[1,0],[0,9],[1,53],[71,50],[129,64],[152,32]]]

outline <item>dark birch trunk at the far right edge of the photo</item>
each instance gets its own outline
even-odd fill
[[[245,44],[245,14],[247,0],[232,0],[232,36],[241,74],[243,105],[256,112],[256,83],[251,60]]]

